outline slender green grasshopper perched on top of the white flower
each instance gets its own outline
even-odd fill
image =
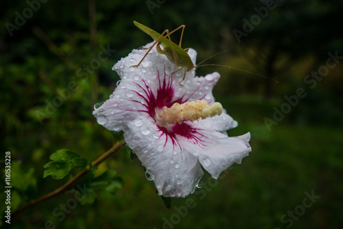
[[[188,48],[187,49],[181,48],[182,36],[183,36],[183,31],[185,30],[185,25],[180,25],[179,27],[177,27],[171,32],[169,32],[169,29],[165,29],[165,31],[162,34],[158,34],[158,32],[154,31],[153,29],[150,29],[149,27],[146,27],[145,25],[142,25],[141,23],[138,23],[137,21],[134,21],[133,23],[134,25],[139,27],[139,29],[145,32],[145,34],[148,34],[155,40],[154,44],[149,48],[147,53],[149,53],[152,47],[156,45],[156,50],[158,51],[158,53],[164,54],[165,56],[167,56],[168,60],[176,64],[177,67],[181,67],[180,69],[171,73],[171,75],[180,71],[181,69],[185,69],[185,74],[183,75],[182,81],[185,80],[186,72],[191,71],[193,68],[196,67],[194,66],[193,62],[191,61],[191,58],[189,57],[187,53]],[[176,45],[175,43],[171,41],[170,34],[173,34],[174,32],[178,31],[178,29],[181,29],[181,28],[182,28],[182,32],[181,32],[181,37],[180,37],[180,43],[179,45]],[[163,49],[161,49],[160,45],[163,47]],[[139,64],[141,64],[141,62],[147,56],[147,53],[145,53],[145,55],[143,56],[143,58],[137,65],[134,65],[131,67],[138,67]]]

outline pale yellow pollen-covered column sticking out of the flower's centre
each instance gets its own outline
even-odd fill
[[[196,121],[221,115],[223,112],[222,104],[215,102],[211,106],[205,100],[187,101],[184,104],[175,103],[170,108],[166,106],[158,112],[158,118],[167,123],[181,124],[182,121]]]

